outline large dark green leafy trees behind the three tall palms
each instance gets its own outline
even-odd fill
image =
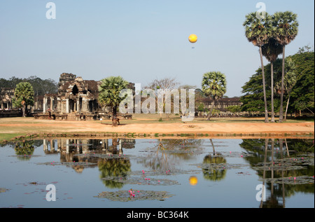
[[[266,81],[270,82],[271,64],[265,66]],[[263,111],[262,70],[259,68],[249,81],[242,86],[240,101],[241,111]],[[287,103],[286,113],[307,110],[314,113],[314,51],[296,53],[286,57],[285,78],[283,81],[284,98]],[[280,109],[282,59],[274,62],[274,97],[275,111]],[[271,88],[267,88],[267,99],[270,99]],[[290,103],[289,103],[290,102]],[[268,109],[270,107],[268,106]]]

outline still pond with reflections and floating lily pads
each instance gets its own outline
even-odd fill
[[[314,208],[314,139],[38,139],[0,146],[0,207]]]

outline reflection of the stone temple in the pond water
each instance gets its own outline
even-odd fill
[[[60,162],[99,162],[99,157],[76,154],[123,154],[123,148],[134,148],[135,139],[43,139],[43,151],[46,155],[60,153]],[[76,172],[85,167],[97,165],[73,165]]]

